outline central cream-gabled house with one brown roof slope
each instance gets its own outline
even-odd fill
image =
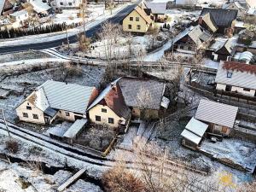
[[[131,119],[131,110],[116,79],[102,91],[88,108],[90,122],[111,127],[126,127]]]

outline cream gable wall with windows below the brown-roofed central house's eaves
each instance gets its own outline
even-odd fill
[[[102,108],[107,109],[107,113],[102,112]],[[101,117],[101,121],[96,121],[96,115]],[[89,117],[90,122],[99,125],[106,124],[112,127],[118,127],[119,120],[125,120],[124,118],[120,118],[116,113],[113,112],[111,108],[108,108],[108,106],[103,106],[100,104],[97,104],[94,108],[90,108]],[[108,118],[113,118],[113,124],[108,123]]]

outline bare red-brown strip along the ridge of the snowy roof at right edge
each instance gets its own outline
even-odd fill
[[[256,74],[256,66],[235,61],[224,61],[223,68],[231,71],[247,72]]]

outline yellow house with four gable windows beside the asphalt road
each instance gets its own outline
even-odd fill
[[[147,14],[145,9],[137,6],[131,11],[129,15],[123,20],[124,32],[148,32],[150,27],[154,27],[154,20],[150,18],[150,14]]]

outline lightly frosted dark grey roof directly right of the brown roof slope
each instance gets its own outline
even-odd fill
[[[166,84],[148,79],[122,78],[119,85],[129,107],[160,109],[162,98],[166,90]],[[142,90],[147,90],[150,96],[148,102],[139,101],[138,97]]]

